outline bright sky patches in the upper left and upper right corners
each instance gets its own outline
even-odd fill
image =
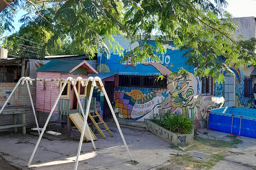
[[[230,12],[234,17],[247,17],[254,16],[256,17],[256,0],[226,0],[228,2],[228,7],[226,10]],[[13,26],[15,30],[13,33],[19,31],[21,23],[21,16],[26,14],[25,11],[20,10],[17,16],[14,18]],[[10,33],[8,33],[10,34]]]

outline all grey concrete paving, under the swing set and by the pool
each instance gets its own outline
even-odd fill
[[[114,136],[110,137],[106,131],[106,139],[103,139],[99,133],[95,134],[97,140],[94,143],[97,151],[93,150],[92,142],[83,142],[77,169],[160,169],[164,165],[168,165],[171,156],[184,152],[171,149],[168,142],[150,133],[147,129],[120,125],[132,155],[133,161],[130,161],[115,123],[106,123]],[[38,141],[36,132],[27,135],[0,136],[0,158],[2,157],[9,161],[10,165],[21,169],[74,169],[80,133],[71,131],[71,138],[68,140],[65,130],[58,130],[62,135],[44,134],[30,167],[26,166]],[[220,140],[226,140],[228,135],[206,129],[199,129],[197,134],[200,137]],[[211,170],[256,169],[256,139],[242,136],[240,139],[243,142],[237,144],[237,148],[230,148],[229,150],[235,154],[218,162]],[[193,154],[197,158],[204,155],[204,153],[198,152]],[[3,168],[0,167],[0,169]]]

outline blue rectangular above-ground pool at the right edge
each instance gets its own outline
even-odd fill
[[[233,125],[231,131],[233,117]],[[256,109],[221,108],[209,112],[209,129],[256,138]],[[241,128],[240,128],[241,122]]]

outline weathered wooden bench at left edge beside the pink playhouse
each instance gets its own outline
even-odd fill
[[[17,127],[22,127],[22,135],[26,135],[26,111],[29,106],[17,105],[17,106],[5,106],[1,115],[13,115],[13,124],[0,125],[0,129],[14,128],[14,132],[17,132]],[[22,114],[22,123],[17,124],[17,115]],[[1,117],[0,117],[1,119]]]

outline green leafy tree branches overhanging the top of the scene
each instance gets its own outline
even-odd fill
[[[121,34],[131,43],[139,41],[139,46],[130,51],[131,62],[136,64],[147,58],[159,60],[156,51],[165,52],[164,44],[173,41],[185,51],[187,64],[197,68],[195,75],[214,76],[219,83],[223,80],[222,71],[256,62],[255,39],[237,40],[237,23],[223,10],[227,5],[224,0],[215,0],[215,4],[208,0],[27,0],[25,4],[29,12],[34,10],[37,16],[45,16],[45,21],[34,20],[34,26],[42,25],[54,34],[45,45],[65,40],[78,51],[93,56],[99,49],[109,58],[107,45],[122,54],[123,48],[112,36]],[[47,17],[44,10],[51,15]],[[23,19],[28,21],[29,18]],[[9,22],[5,23],[2,29],[9,28]],[[156,47],[149,43],[153,35]],[[130,54],[122,55],[121,62],[127,61]]]

